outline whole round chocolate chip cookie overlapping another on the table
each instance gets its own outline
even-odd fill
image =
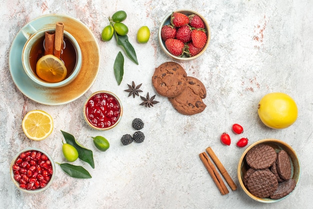
[[[185,88],[187,73],[176,62],[165,62],[155,68],[152,84],[160,95],[174,97]]]

